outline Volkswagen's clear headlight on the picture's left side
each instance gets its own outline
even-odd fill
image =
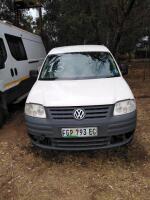
[[[44,106],[38,104],[27,103],[25,114],[31,117],[46,118]]]

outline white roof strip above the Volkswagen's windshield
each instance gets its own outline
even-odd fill
[[[71,53],[71,52],[110,52],[104,45],[76,45],[76,46],[64,46],[52,49],[49,52],[51,54],[59,53]]]

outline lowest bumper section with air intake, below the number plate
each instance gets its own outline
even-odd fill
[[[40,148],[53,149],[53,150],[84,151],[84,150],[113,148],[128,144],[133,139],[133,132],[134,131],[117,136],[112,135],[106,137],[77,138],[77,139],[38,137],[31,134],[30,137],[32,143]]]

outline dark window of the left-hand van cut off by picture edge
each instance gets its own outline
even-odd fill
[[[3,40],[0,38],[0,69],[4,68],[5,61],[7,59],[7,53]]]

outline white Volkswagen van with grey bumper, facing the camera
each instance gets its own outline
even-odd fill
[[[111,148],[132,140],[136,104],[105,46],[60,47],[44,61],[26,101],[25,119],[36,146]]]

